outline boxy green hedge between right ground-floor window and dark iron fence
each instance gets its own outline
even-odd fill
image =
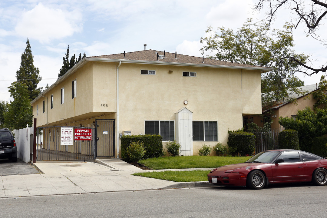
[[[255,135],[243,131],[228,131],[228,146],[230,152],[239,153],[241,156],[252,155],[255,147]]]

